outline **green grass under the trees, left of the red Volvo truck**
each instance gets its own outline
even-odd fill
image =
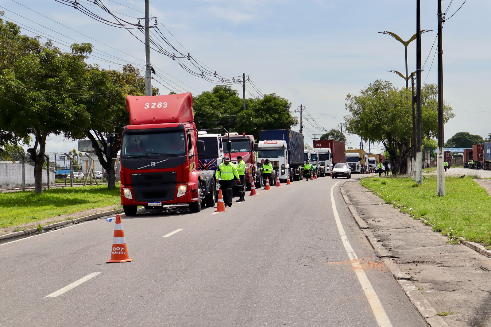
[[[120,203],[119,186],[85,186],[34,191],[0,193],[0,227],[17,226],[86,209]]]

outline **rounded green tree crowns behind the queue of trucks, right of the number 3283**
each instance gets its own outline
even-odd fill
[[[296,126],[298,121],[290,114],[290,107],[287,99],[273,93],[262,99],[246,99],[246,110],[243,110],[242,98],[228,85],[217,85],[193,98],[198,129],[225,127],[230,132],[245,132],[255,138],[261,130]]]

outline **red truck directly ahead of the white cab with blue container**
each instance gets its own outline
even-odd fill
[[[246,164],[246,191],[250,190],[251,183],[255,183],[256,187],[261,187],[261,172],[256,169],[256,151],[257,144],[254,143],[254,136],[243,133],[230,133],[230,148],[228,144],[228,133],[222,137],[223,153],[225,156],[230,156],[230,161],[237,164],[237,156],[242,156],[242,160]],[[235,190],[236,182],[234,183]]]

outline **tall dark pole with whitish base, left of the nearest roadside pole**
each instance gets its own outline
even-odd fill
[[[421,0],[416,0],[416,184],[423,183],[421,160]]]

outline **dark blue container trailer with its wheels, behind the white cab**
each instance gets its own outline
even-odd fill
[[[303,179],[303,134],[292,130],[266,130],[259,132],[260,141],[284,140],[286,141],[288,166],[290,169],[290,181]]]

